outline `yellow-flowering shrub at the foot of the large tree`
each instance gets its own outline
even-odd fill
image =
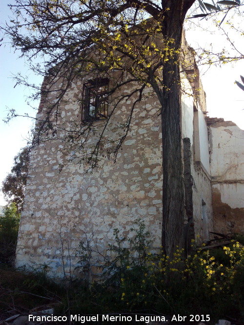
[[[194,310],[195,314],[210,314],[216,320],[225,315],[244,317],[244,247],[240,243],[218,249],[226,255],[225,264],[205,249],[185,259],[184,249],[177,248],[170,258],[162,248],[158,253],[150,252],[143,222],[138,222],[137,227],[131,230],[140,236],[134,237],[130,246],[127,243],[124,248],[125,239],[119,240],[116,229],[117,244],[109,248],[115,257],[106,263],[106,276],[110,277],[105,287],[113,287],[113,308],[145,308],[169,315],[191,314]],[[111,303],[108,297],[103,298],[105,305]]]

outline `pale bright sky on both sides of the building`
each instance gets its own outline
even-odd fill
[[[0,24],[11,15],[7,4],[11,0],[1,0],[0,2]],[[201,22],[207,26],[207,22]],[[199,45],[205,46],[211,42],[220,50],[226,45],[226,39],[217,34],[212,29],[212,34],[206,34],[204,30],[190,28],[186,31],[188,43],[193,48]],[[231,39],[236,44],[243,47],[240,49],[244,53],[243,36],[237,33],[231,34]],[[20,148],[26,145],[32,120],[26,117],[18,117],[9,123],[4,123],[9,109],[15,109],[20,115],[27,113],[35,116],[36,112],[27,104],[27,97],[31,91],[17,85],[13,75],[21,72],[24,76],[29,76],[30,81],[40,84],[42,78],[33,76],[28,69],[24,58],[18,58],[19,52],[15,52],[10,44],[4,39],[0,46],[0,186],[4,178],[11,171],[14,156]],[[206,93],[207,111],[210,117],[223,117],[225,120],[232,120],[241,129],[244,129],[244,92],[237,87],[235,80],[240,81],[240,75],[244,75],[244,60],[236,64],[226,64],[220,67],[200,66],[200,74],[203,82],[203,89]],[[33,106],[38,107],[38,102],[33,102]],[[0,193],[0,205],[5,205],[2,193]]]

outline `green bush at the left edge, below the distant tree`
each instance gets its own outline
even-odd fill
[[[11,264],[15,258],[20,214],[15,203],[11,203],[0,216],[0,263]]]

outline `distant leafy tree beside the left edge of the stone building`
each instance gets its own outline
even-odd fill
[[[15,203],[22,210],[30,160],[30,147],[24,147],[14,157],[14,166],[2,182],[2,192],[8,203]]]

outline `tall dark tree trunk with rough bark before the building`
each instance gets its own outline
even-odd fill
[[[163,222],[162,246],[166,255],[184,247],[184,184],[181,144],[181,85],[179,53],[183,20],[193,0],[168,0],[162,20],[164,38],[162,142],[163,142]],[[173,40],[172,42],[168,42]],[[166,57],[167,49],[173,55]]]

